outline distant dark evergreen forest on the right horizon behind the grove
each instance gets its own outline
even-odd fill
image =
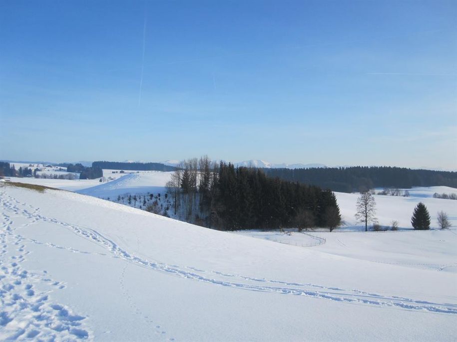
[[[457,172],[412,170],[397,167],[264,169],[270,177],[318,185],[333,191],[365,191],[374,187],[411,188],[446,185],[457,187]]]

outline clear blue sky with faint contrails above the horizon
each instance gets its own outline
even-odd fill
[[[0,4],[0,159],[457,169],[456,1]]]

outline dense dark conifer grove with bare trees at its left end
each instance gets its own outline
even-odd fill
[[[167,183],[175,215],[222,230],[321,226],[341,223],[334,193],[315,185],[267,177],[204,156],[180,163]]]

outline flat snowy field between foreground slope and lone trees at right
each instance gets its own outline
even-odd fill
[[[457,230],[360,232],[238,231],[234,234],[329,254],[433,271],[457,273]]]

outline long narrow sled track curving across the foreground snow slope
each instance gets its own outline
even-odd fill
[[[450,315],[457,314],[457,304],[433,303],[405,297],[384,296],[357,289],[345,290],[338,287],[326,287],[310,283],[306,284],[285,282],[273,279],[259,279],[243,275],[227,274],[214,270],[199,270],[189,266],[180,267],[176,265],[167,265],[165,263],[161,263],[158,261],[145,260],[133,255],[127,250],[122,249],[114,241],[111,241],[110,239],[104,237],[102,234],[100,234],[94,229],[73,225],[70,223],[62,222],[52,217],[43,216],[39,214],[36,208],[32,208],[32,210],[21,210],[13,204],[13,202],[15,201],[13,197],[7,196],[7,198],[4,198],[4,192],[1,192],[0,196],[2,206],[4,207],[4,209],[8,211],[13,211],[15,214],[23,215],[30,221],[44,221],[58,224],[62,227],[70,229],[71,231],[77,233],[78,235],[92,242],[95,242],[103,246],[104,248],[110,251],[110,254],[113,257],[122,258],[138,266],[178,276],[181,278],[247,291],[268,292],[271,294],[283,294],[294,296],[306,296],[341,303],[369,305],[375,307],[390,307],[428,313],[440,313]],[[25,205],[25,203],[23,204]]]

